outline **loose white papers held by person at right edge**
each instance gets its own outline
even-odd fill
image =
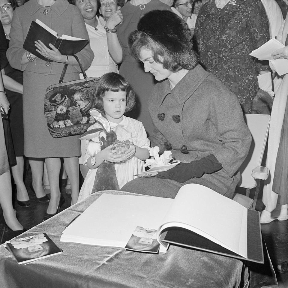
[[[275,38],[270,39],[259,48],[253,50],[250,55],[259,60],[269,60],[279,76],[288,73],[287,59],[273,59],[271,53],[275,50],[285,47],[280,41]]]

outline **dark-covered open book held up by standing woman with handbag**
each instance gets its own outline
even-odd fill
[[[36,22],[32,21],[23,48],[42,60],[48,60],[36,51],[37,48],[34,42],[37,40],[41,40],[48,48],[50,48],[49,43],[53,44],[62,55],[74,55],[89,43],[89,40],[64,34],[58,36],[57,32],[49,28],[39,19],[36,19]]]

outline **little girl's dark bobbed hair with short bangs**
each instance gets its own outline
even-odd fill
[[[105,92],[119,92],[126,91],[126,110],[128,112],[132,110],[136,102],[136,95],[132,85],[120,74],[110,72],[104,74],[98,81],[98,84],[94,91],[93,107],[104,112],[103,109],[103,97]]]

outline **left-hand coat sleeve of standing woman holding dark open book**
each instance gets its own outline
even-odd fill
[[[8,61],[13,68],[24,71],[28,63],[21,65],[21,58],[26,51],[23,48],[25,39],[23,36],[22,24],[19,19],[18,8],[15,9],[12,17],[10,36],[11,40],[6,53]]]

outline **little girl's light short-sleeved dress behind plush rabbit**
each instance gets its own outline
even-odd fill
[[[150,141],[147,138],[144,126],[140,121],[123,116],[123,120],[119,124],[113,122],[109,123],[111,129],[116,132],[118,140],[129,140],[140,148],[150,148]],[[102,126],[96,122],[94,125],[90,126],[88,130],[95,128],[102,128]],[[99,141],[98,138],[94,138],[92,140]],[[88,140],[86,141],[88,143]],[[86,152],[84,155],[84,165],[86,164],[89,157],[90,155]],[[79,193],[78,202],[91,195],[97,169],[98,168],[90,169],[88,171]],[[134,174],[144,172],[144,161],[134,156],[128,162],[121,164],[116,163],[115,170],[119,187],[121,189],[121,187],[124,186],[127,182],[137,178],[136,176],[134,176]]]

